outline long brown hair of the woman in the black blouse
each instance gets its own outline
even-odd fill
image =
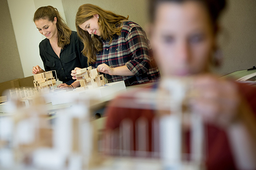
[[[57,18],[56,26],[58,30],[57,45],[63,49],[65,45],[70,43],[70,35],[72,31],[60,16],[57,8],[54,8],[53,6],[42,6],[38,8],[34,14],[33,21],[48,19],[53,22],[55,17]]]

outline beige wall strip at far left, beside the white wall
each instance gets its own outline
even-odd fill
[[[7,0],[0,0],[0,82],[24,77]]]

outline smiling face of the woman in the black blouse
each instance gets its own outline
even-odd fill
[[[47,39],[57,37],[58,29],[56,26],[57,18],[54,21],[49,21],[48,19],[39,19],[35,21],[38,31],[43,34]]]

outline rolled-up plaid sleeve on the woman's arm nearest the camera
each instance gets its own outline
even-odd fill
[[[126,42],[126,45],[133,56],[132,60],[126,62],[125,65],[138,77],[147,72],[150,66],[147,38],[142,28],[133,27],[127,35]]]

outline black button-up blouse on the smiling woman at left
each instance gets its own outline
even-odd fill
[[[81,53],[83,48],[84,45],[77,36],[77,32],[72,31],[70,43],[64,46],[64,49],[61,49],[58,57],[53,51],[50,41],[45,38],[39,44],[40,56],[45,71],[56,70],[57,77],[62,82],[72,80],[71,71],[75,67],[88,67],[87,57]]]

